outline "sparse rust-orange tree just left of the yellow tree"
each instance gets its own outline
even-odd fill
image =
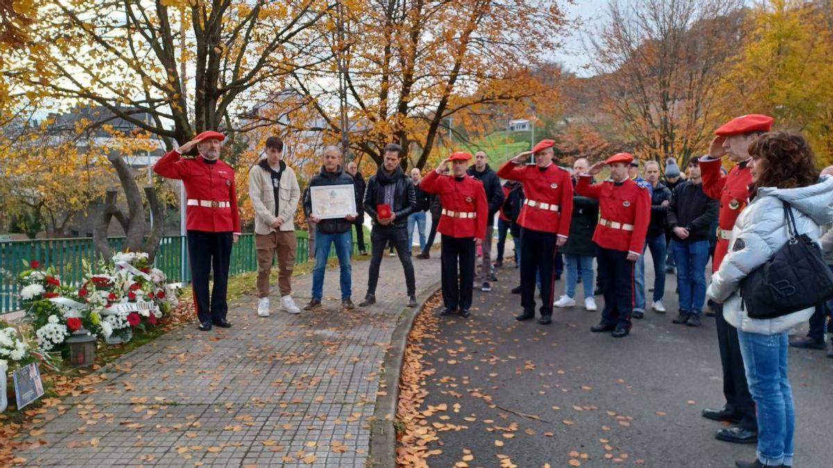
[[[736,0],[648,0],[608,6],[589,41],[604,110],[636,156],[686,167],[712,137],[723,67],[741,41]]]

